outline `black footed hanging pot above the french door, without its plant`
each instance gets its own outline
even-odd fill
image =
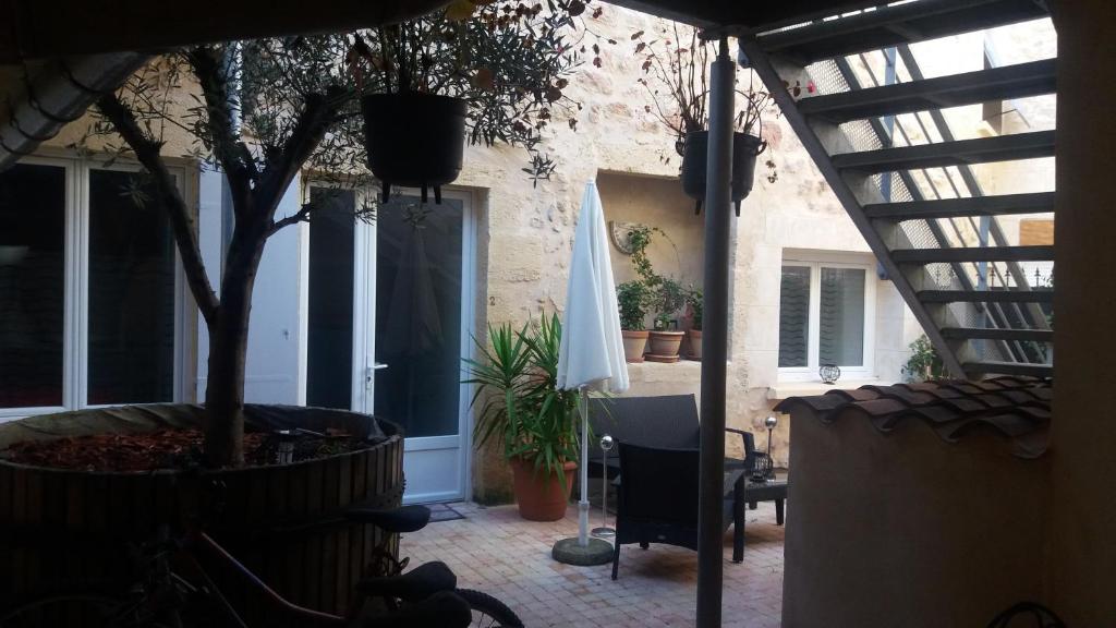
[[[442,185],[461,173],[465,145],[466,104],[461,98],[407,92],[368,94],[360,98],[368,168],[384,185],[384,202],[392,185],[434,188],[442,202]]]

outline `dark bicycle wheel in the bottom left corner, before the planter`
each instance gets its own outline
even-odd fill
[[[119,597],[97,591],[70,591],[29,598],[0,612],[0,628],[134,626],[127,617],[131,605]]]

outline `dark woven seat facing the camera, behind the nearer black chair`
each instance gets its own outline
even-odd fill
[[[661,397],[616,397],[589,401],[589,424],[599,438],[612,436],[617,443],[661,447],[666,449],[698,449],[701,424],[698,402],[693,394],[664,394]],[[744,469],[751,473],[756,459],[756,439],[751,432],[725,428],[740,436],[743,458],[725,458],[725,469]],[[608,457],[608,477],[619,473],[615,453]],[[589,475],[600,477],[602,451],[589,448]]]

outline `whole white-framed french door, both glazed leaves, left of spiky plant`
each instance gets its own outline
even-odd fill
[[[461,499],[469,484],[470,197],[400,196],[353,219],[358,191],[330,194],[310,225],[307,405],[352,408],[406,436],[406,502]],[[371,191],[368,193],[372,193]]]

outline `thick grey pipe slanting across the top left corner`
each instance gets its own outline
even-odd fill
[[[13,98],[8,120],[0,122],[0,171],[81,117],[147,59],[140,53],[113,53],[49,61]]]

